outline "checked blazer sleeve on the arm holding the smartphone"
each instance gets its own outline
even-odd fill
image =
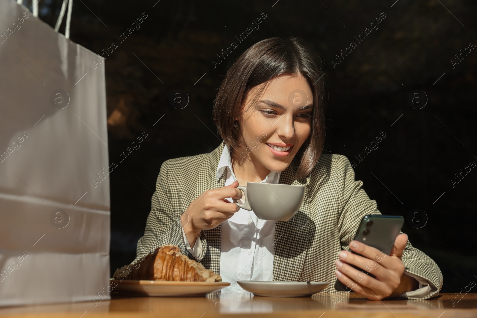
[[[349,251],[349,243],[358,229],[361,218],[364,215],[381,215],[377,209],[376,201],[370,200],[364,192],[363,181],[354,179],[354,170],[343,155],[339,155],[336,170],[337,184],[339,185],[340,216],[338,218],[338,230],[340,232],[341,246]],[[402,231],[399,231],[402,234]],[[408,292],[407,299],[427,299],[435,296],[442,288],[443,276],[436,262],[421,250],[411,245],[407,240],[403,251],[402,261],[405,273],[419,281],[419,289],[427,284],[427,293]],[[424,283],[424,284],[423,284]],[[404,295],[404,294],[403,294]],[[400,297],[400,298],[401,298]]]

